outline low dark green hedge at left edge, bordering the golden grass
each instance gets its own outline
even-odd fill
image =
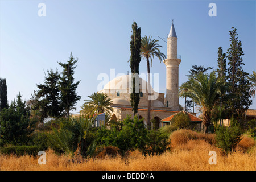
[[[38,152],[41,150],[39,146],[10,146],[1,148],[0,152],[2,154],[15,154],[15,155],[38,155]]]

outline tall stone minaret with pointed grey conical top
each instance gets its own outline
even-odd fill
[[[179,107],[179,64],[181,56],[177,55],[177,35],[174,29],[174,21],[167,38],[166,65],[166,106],[174,111],[180,111]]]

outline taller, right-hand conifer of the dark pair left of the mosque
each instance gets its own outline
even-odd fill
[[[75,64],[77,63],[78,59],[74,59],[72,52],[69,57],[69,61],[67,63],[59,63],[59,65],[63,68],[61,72],[62,75],[60,76],[59,80],[59,89],[60,89],[60,100],[61,106],[64,108],[65,117],[69,117],[70,111],[76,109],[74,106],[76,102],[81,99],[81,96],[78,96],[76,93],[77,86],[79,85],[80,81],[74,82],[74,70],[76,68]]]

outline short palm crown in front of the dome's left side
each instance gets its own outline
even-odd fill
[[[91,100],[86,101],[81,107],[82,113],[84,114],[94,114],[96,111],[98,113],[108,113],[113,111],[113,108],[110,107],[112,104],[111,99],[105,93],[93,93],[91,96],[88,96]]]

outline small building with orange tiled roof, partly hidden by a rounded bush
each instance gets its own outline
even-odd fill
[[[188,115],[189,122],[191,122],[191,123],[195,126],[195,129],[196,129],[196,130],[201,131],[203,120],[200,119],[200,118],[197,118],[196,115],[193,115],[193,114],[191,114],[191,113],[188,113],[188,112],[186,112],[186,111],[184,111],[184,110],[182,110],[182,111],[180,111],[180,112],[178,112],[178,113],[176,113],[176,114],[170,115],[170,116],[167,117],[167,118],[162,119],[162,120],[161,120],[162,127],[163,127],[163,126],[166,126],[166,125],[170,125],[172,118],[174,118],[175,115],[177,115],[177,114],[179,114],[179,113],[181,113],[181,112],[183,112],[184,114],[187,114],[187,115]],[[194,114],[195,114],[195,113],[194,113]]]

